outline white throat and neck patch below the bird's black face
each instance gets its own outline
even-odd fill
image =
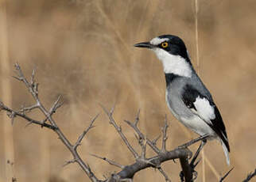
[[[165,74],[177,74],[189,78],[192,76],[191,66],[180,55],[170,55],[169,52],[161,48],[153,48],[152,50],[163,63]]]

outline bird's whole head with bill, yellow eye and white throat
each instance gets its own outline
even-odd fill
[[[187,48],[178,36],[157,36],[149,42],[134,44],[135,47],[145,47],[154,51],[164,66],[165,74],[177,74],[191,77],[192,64]]]

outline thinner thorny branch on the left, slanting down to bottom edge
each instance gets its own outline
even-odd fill
[[[21,67],[16,63],[15,69],[17,72],[17,76],[14,76],[18,81],[23,82],[25,84],[25,87],[29,89],[29,93],[31,93],[33,99],[35,100],[36,104],[34,104],[32,107],[29,108],[21,108],[20,111],[16,112],[11,108],[8,108],[6,105],[0,103],[0,107],[2,110],[5,110],[6,112],[11,113],[11,118],[14,119],[16,116],[19,116],[25,120],[27,120],[29,123],[35,123],[38,125],[41,125],[41,127],[48,127],[52,131],[56,132],[56,135],[60,138],[61,142],[64,143],[64,145],[68,148],[68,150],[71,152],[73,159],[72,162],[76,162],[80,165],[80,167],[83,169],[84,173],[89,176],[91,181],[97,182],[99,181],[94,173],[91,172],[91,169],[88,165],[85,164],[85,162],[81,159],[80,154],[77,152],[77,145],[72,145],[72,143],[66,138],[66,136],[63,134],[63,132],[60,130],[59,127],[57,127],[57,124],[55,120],[52,118],[52,114],[56,112],[57,108],[60,108],[62,104],[60,104],[60,97],[52,104],[52,108],[47,110],[45,106],[41,103],[40,97],[38,96],[38,83],[35,81],[34,75],[35,70],[33,70],[32,77],[30,82],[25,78],[24,74],[22,73]],[[37,121],[35,119],[29,118],[29,116],[25,115],[25,111],[32,111],[35,108],[39,108],[41,112],[45,115],[45,119],[42,121]],[[49,123],[46,123],[46,122]],[[95,121],[95,119],[91,120],[91,124]],[[91,126],[90,124],[90,126]],[[91,128],[89,126],[89,128]],[[68,163],[72,163],[69,161]]]

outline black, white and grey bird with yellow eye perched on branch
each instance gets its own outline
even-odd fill
[[[217,139],[230,165],[230,145],[226,127],[211,93],[192,66],[184,41],[179,36],[161,35],[149,42],[134,44],[152,50],[165,72],[165,100],[169,110],[188,129],[205,136],[198,155],[208,140]]]

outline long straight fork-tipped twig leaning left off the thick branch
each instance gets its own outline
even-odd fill
[[[125,135],[123,135],[122,133],[122,128],[121,127],[118,127],[117,123],[115,123],[114,121],[114,118],[112,116],[112,113],[114,112],[114,109],[112,108],[111,109],[111,112],[107,112],[107,109],[104,108],[102,105],[101,107],[103,108],[104,112],[106,112],[109,120],[110,120],[110,123],[114,126],[115,130],[118,131],[118,134],[121,136],[122,138],[122,141],[126,143],[126,146],[128,147],[128,149],[130,150],[131,154],[134,155],[134,157],[137,159],[139,156],[138,156],[138,153],[134,150],[134,148],[130,145],[130,142],[128,142],[127,138]]]

